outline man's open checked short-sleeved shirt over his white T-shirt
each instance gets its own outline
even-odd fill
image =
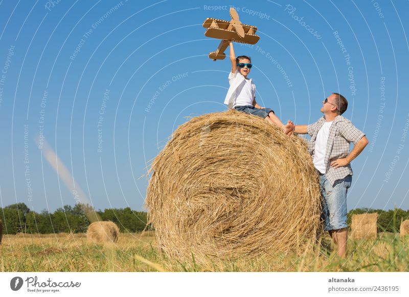
[[[308,152],[314,160],[315,141],[318,131],[325,123],[325,116],[307,126],[307,133],[311,136],[308,143]],[[350,143],[356,144],[365,134],[356,129],[352,122],[338,115],[334,118],[331,127],[329,128],[327,150],[325,152],[324,164],[326,164],[326,176],[333,185],[336,180],[343,179],[348,175],[352,175],[351,164],[338,168],[330,166],[331,161],[339,158],[345,158],[349,155]]]

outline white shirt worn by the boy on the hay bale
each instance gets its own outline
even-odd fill
[[[224,98],[224,104],[229,105],[229,109],[238,105],[253,105],[253,100],[256,97],[256,85],[252,79],[246,80],[236,69],[235,73],[229,73],[229,84],[229,91]],[[239,99],[239,102],[237,102],[237,99]]]

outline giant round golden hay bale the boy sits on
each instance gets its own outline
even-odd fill
[[[259,117],[234,110],[194,117],[149,172],[148,219],[170,258],[304,252],[321,231],[306,142]]]

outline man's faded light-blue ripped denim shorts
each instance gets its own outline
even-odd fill
[[[347,228],[347,192],[351,186],[352,176],[336,180],[331,185],[327,176],[320,174],[320,190],[322,197],[322,219],[324,231]]]

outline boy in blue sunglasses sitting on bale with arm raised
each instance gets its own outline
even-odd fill
[[[247,78],[252,68],[251,59],[247,56],[236,58],[233,42],[224,40],[224,43],[230,45],[230,60],[232,62],[232,71],[229,73],[230,88],[224,99],[224,104],[228,104],[229,109],[260,116],[269,123],[279,126],[285,134],[291,135],[294,130],[292,121],[288,120],[287,124],[284,125],[274,114],[274,111],[257,104],[256,86],[252,79]]]

